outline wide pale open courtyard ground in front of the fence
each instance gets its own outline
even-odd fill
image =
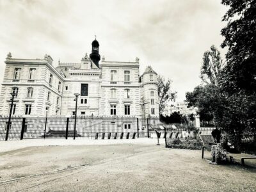
[[[0,191],[255,191],[255,173],[156,139],[0,142]]]

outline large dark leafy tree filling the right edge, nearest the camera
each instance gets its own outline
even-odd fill
[[[221,30],[221,47],[228,47],[227,64],[220,78],[223,105],[217,106],[216,122],[241,148],[244,132],[256,141],[256,18],[255,0],[222,0],[229,6],[223,17],[228,24]]]

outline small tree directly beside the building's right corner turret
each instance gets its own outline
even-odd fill
[[[157,77],[158,82],[158,97],[159,97],[159,113],[162,114],[166,104],[169,101],[175,101],[177,92],[171,90],[171,79],[164,79],[163,76]]]

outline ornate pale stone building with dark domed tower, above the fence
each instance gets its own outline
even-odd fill
[[[19,59],[8,54],[1,88],[0,115],[8,115],[11,92],[13,115],[159,116],[157,73],[147,67],[140,76],[140,62],[100,62],[99,42],[92,42],[92,53],[79,63],[44,59]]]

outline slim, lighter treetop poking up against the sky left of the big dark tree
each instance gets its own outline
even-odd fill
[[[210,49],[211,51],[204,52],[200,77],[206,84],[211,83],[219,86],[221,68],[223,68],[224,64],[221,60],[220,51],[214,45]]]

